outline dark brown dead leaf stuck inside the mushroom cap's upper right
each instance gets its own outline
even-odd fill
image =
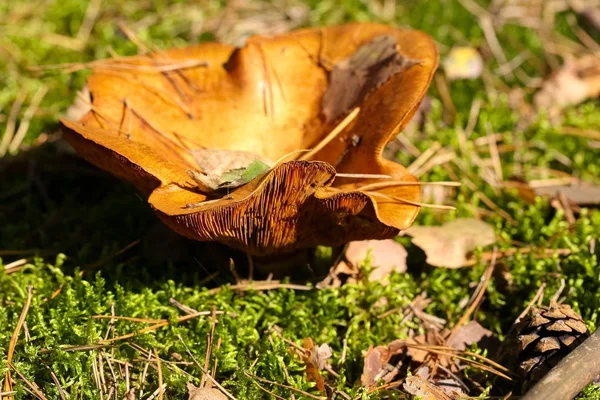
[[[390,76],[418,63],[398,52],[393,36],[378,36],[362,45],[331,71],[330,83],[323,96],[325,120],[335,121],[349,113]]]

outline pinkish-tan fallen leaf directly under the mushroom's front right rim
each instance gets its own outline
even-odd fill
[[[383,281],[393,271],[406,271],[406,249],[393,239],[363,240],[351,242],[346,249],[346,260],[358,268],[367,256],[371,256],[374,269],[369,274],[371,281]]]

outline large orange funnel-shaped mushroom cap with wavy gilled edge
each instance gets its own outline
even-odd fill
[[[392,238],[417,216],[420,188],[382,152],[418,109],[437,58],[428,35],[379,24],[255,36],[241,48],[203,43],[122,57],[91,66],[93,108],[77,122],[63,120],[64,137],[148,195],[158,217],[190,239],[269,256]],[[351,95],[339,107],[324,100],[340,88]],[[356,113],[345,115],[350,111]],[[240,176],[225,187],[222,179],[188,175],[202,169],[196,149],[265,160],[314,151],[249,182],[236,170]],[[199,186],[227,190],[215,196]]]

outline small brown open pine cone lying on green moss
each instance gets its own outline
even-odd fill
[[[537,382],[589,336],[581,317],[567,304],[533,308],[518,331],[519,367],[526,384]]]

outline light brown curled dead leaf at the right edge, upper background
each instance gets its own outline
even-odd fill
[[[588,55],[579,59],[566,58],[561,69],[550,75],[533,97],[536,108],[547,109],[551,115],[600,95],[600,58]]]

